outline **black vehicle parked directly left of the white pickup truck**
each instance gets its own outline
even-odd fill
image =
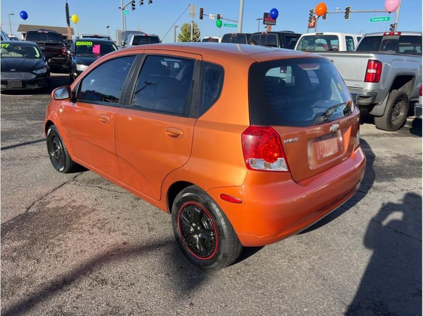
[[[257,32],[248,44],[294,49],[301,34],[292,31]]]

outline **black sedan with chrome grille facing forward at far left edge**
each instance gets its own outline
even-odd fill
[[[50,68],[36,43],[2,41],[0,49],[1,90],[38,89],[49,86]]]

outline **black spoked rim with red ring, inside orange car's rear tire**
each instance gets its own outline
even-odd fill
[[[188,202],[179,210],[179,230],[190,253],[209,259],[216,253],[217,229],[209,213],[200,204]]]

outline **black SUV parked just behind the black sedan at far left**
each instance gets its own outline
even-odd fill
[[[67,68],[66,46],[59,32],[44,29],[29,30],[25,33],[25,41],[37,43],[44,54],[52,55],[48,61],[51,69]]]

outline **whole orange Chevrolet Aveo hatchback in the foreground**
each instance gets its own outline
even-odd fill
[[[181,250],[205,270],[307,228],[363,179],[359,110],[318,55],[135,46],[52,98],[44,127],[55,169],[80,164],[171,213]]]

